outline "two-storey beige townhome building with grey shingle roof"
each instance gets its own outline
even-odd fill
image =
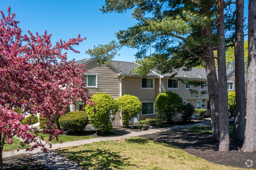
[[[97,62],[96,58],[85,58],[76,61],[75,64],[86,64],[87,88],[89,92],[107,93],[114,99],[129,94],[139,98],[142,102],[142,111],[131,119],[131,123],[136,123],[139,120],[148,118],[156,118],[156,110],[154,101],[159,93],[163,91],[173,91],[182,97],[184,102],[191,103],[197,109],[207,109],[206,116],[210,116],[210,102],[208,94],[202,96],[192,96],[189,89],[208,91],[208,86],[193,86],[184,84],[180,79],[191,81],[202,81],[207,85],[205,69],[192,68],[191,71],[177,70],[177,74],[171,77],[170,73],[160,74],[156,70],[151,70],[147,76],[141,76],[132,71],[139,66],[136,62],[123,62],[111,60],[110,65],[102,65]],[[245,74],[247,80],[247,74]],[[235,71],[227,70],[227,88],[235,90]],[[247,83],[245,82],[245,90]],[[247,93],[247,91],[246,91]],[[70,105],[70,111],[82,110],[83,101],[77,101],[76,104]],[[117,113],[115,118],[115,126],[121,125],[121,111]],[[177,115],[173,120],[179,120],[180,115]]]

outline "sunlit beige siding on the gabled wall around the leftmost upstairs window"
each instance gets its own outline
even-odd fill
[[[114,99],[120,96],[120,77],[117,77],[117,70],[110,66],[97,64],[96,60],[87,64],[85,68],[87,73],[98,74],[98,88],[88,88],[89,92],[95,94],[101,91],[111,95]]]

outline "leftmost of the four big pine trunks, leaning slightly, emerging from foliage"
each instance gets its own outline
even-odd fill
[[[206,48],[204,48],[203,51],[204,55],[214,56],[213,46],[210,43],[206,44]],[[204,65],[208,81],[208,95],[211,108],[211,134],[215,140],[219,141],[219,90],[214,58],[204,58]]]

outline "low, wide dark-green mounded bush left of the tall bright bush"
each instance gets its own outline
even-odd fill
[[[71,131],[82,131],[89,123],[87,114],[84,111],[69,112],[59,118],[62,128]]]

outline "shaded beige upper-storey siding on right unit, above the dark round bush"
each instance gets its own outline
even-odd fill
[[[181,81],[179,81],[179,88],[178,89],[168,89],[167,88],[167,78],[162,78],[161,79],[161,91],[173,91],[174,93],[177,93],[178,95],[180,95],[180,97],[182,97],[183,100],[187,100],[187,99],[208,99],[208,94],[205,94],[203,96],[198,96],[198,97],[193,97],[190,93],[190,91],[188,89],[185,89],[185,84],[182,83]],[[208,87],[206,86],[206,91],[208,91]],[[200,86],[197,86],[196,88],[191,85],[191,89],[192,90],[197,90],[197,91],[202,91],[200,90]]]

